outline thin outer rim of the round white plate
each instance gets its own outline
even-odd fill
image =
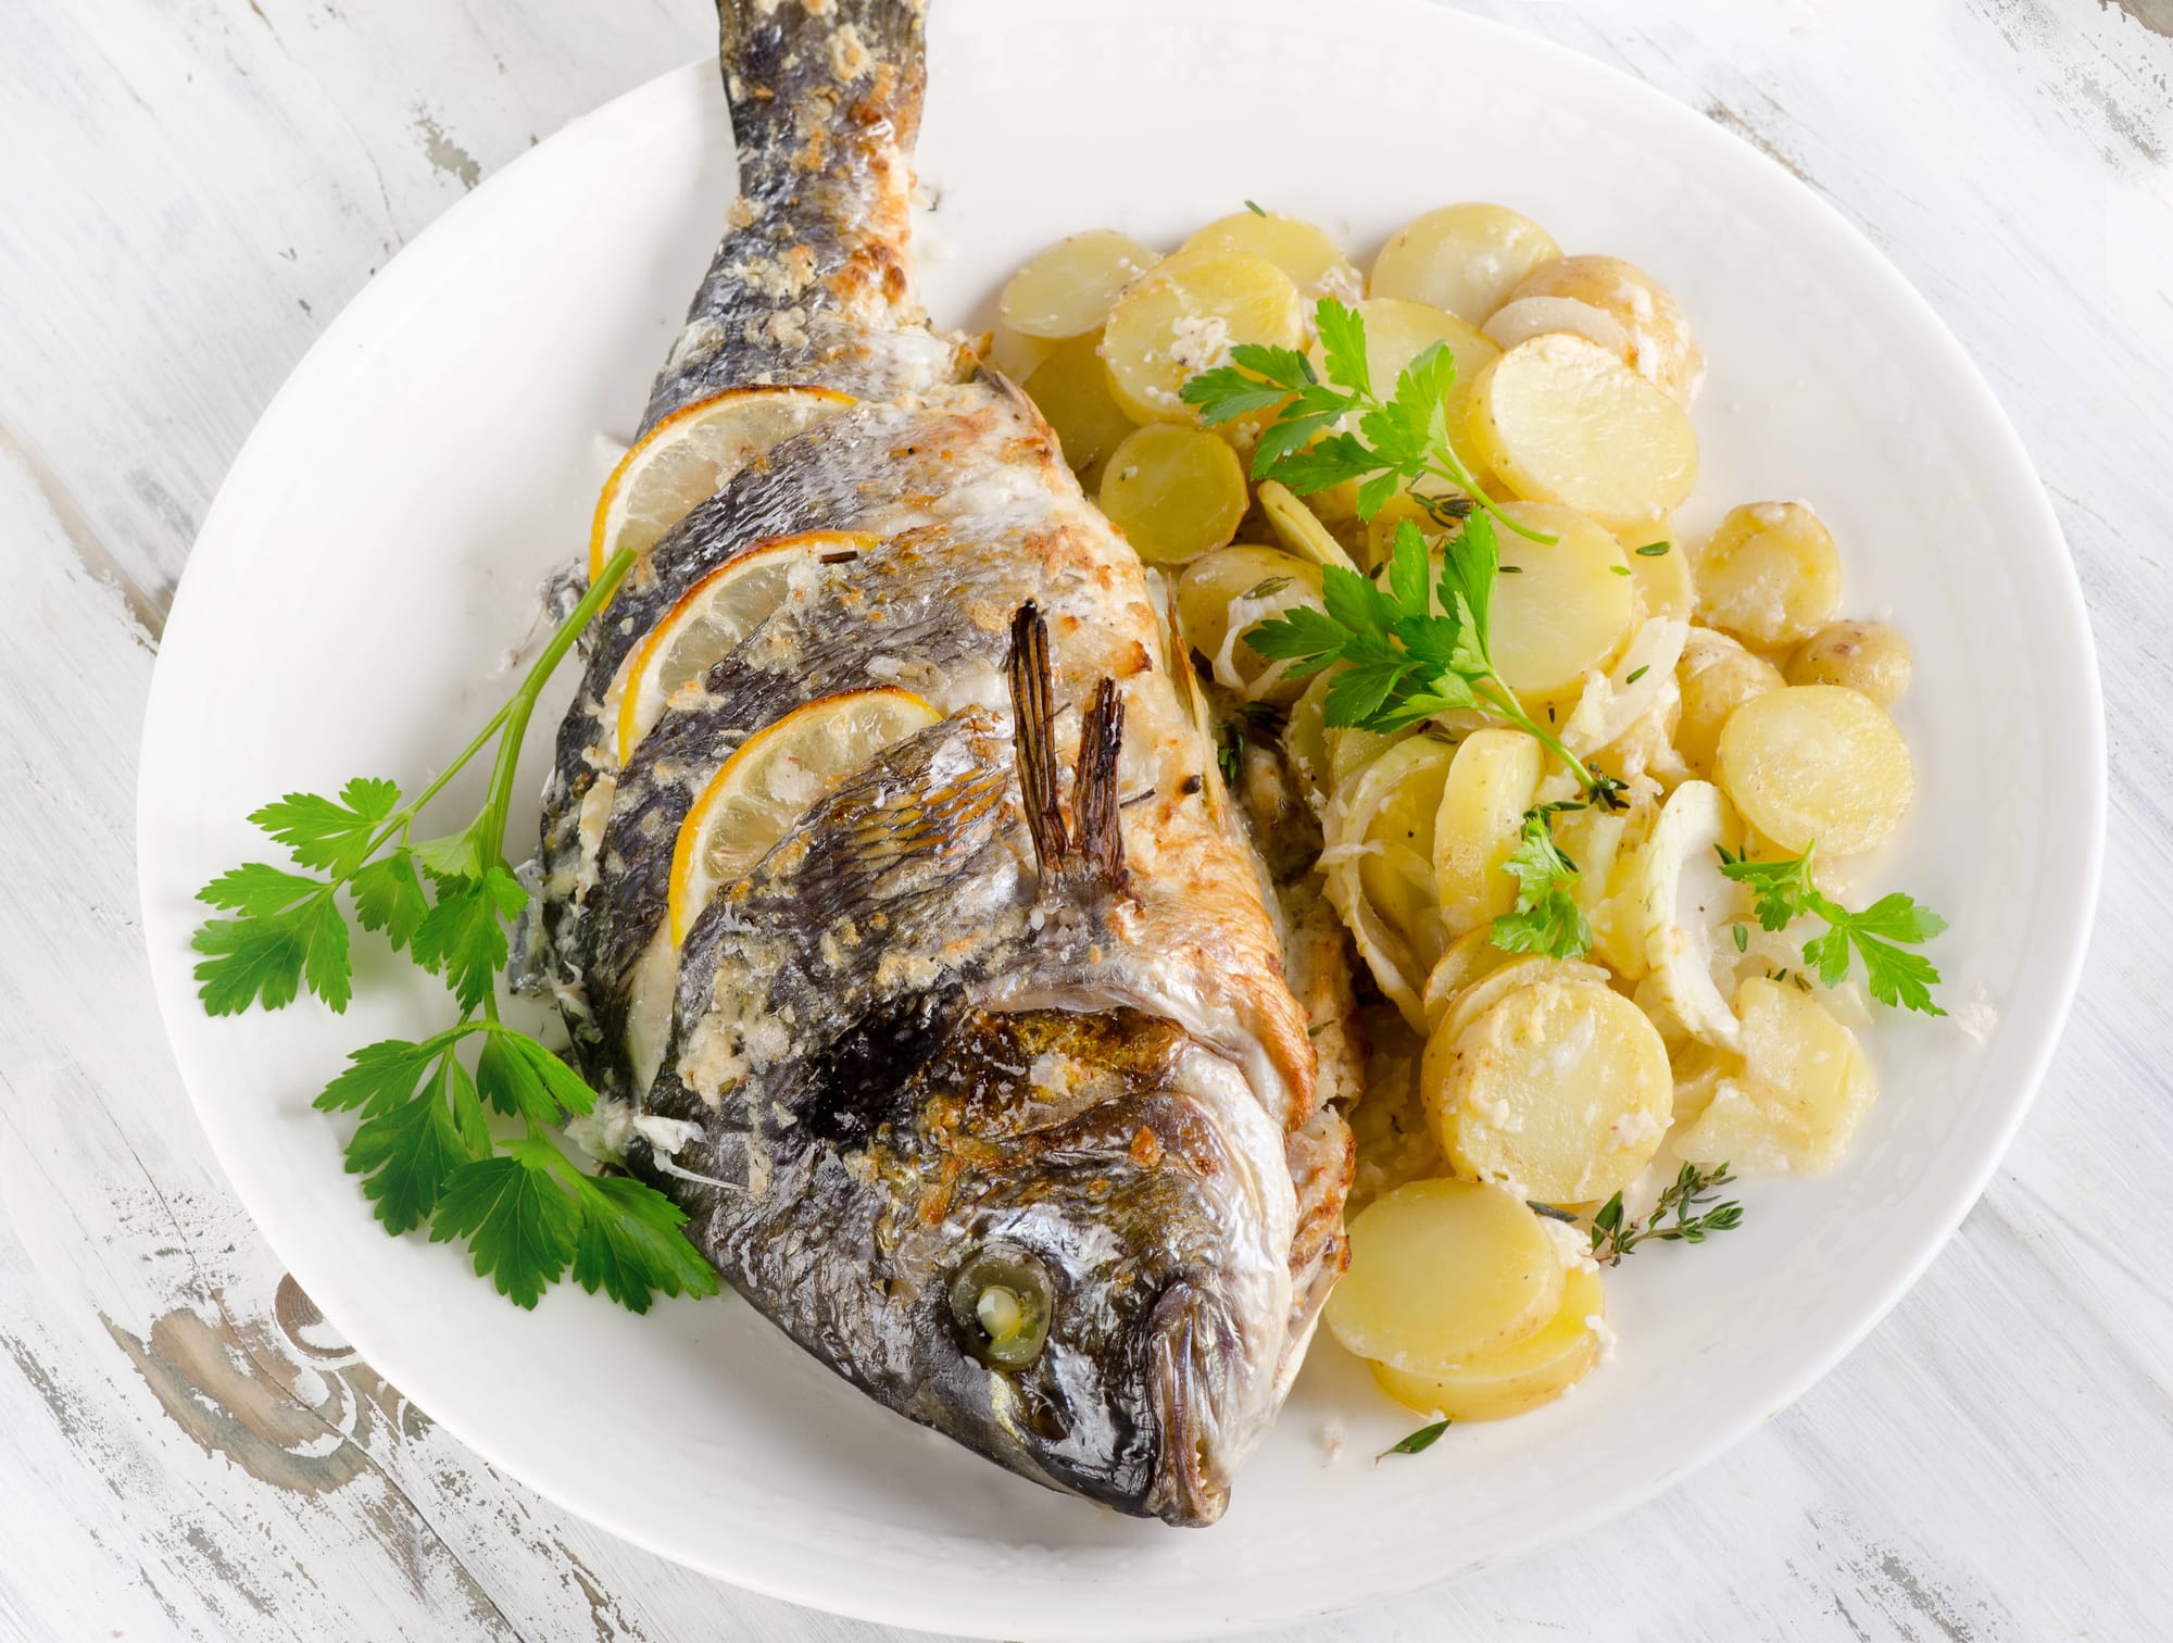
[[[1282,4],[1284,11],[1293,13],[1297,11],[1295,0],[1278,0],[1278,4]],[[1352,0],[1345,0],[1345,4],[1352,4]],[[2062,609],[2058,615],[2062,624],[2071,628],[2069,650],[2077,665],[2073,680],[2069,680],[2077,689],[2077,702],[2075,702],[2077,724],[2071,728],[2084,737],[2084,748],[2080,750],[2080,756],[2082,756],[2082,767],[2088,772],[2086,791],[2069,795],[2071,800],[2080,800],[2086,806],[2086,815],[2077,824],[2082,843],[2086,848],[2080,861],[2069,863],[2069,880],[2075,887],[2075,904],[2080,906],[2080,917],[2069,926],[2064,943],[2067,950],[2060,954],[2058,961],[2056,987],[2053,995],[2049,998],[2051,1008],[2047,1013],[2047,1026],[2038,1034],[2038,1039],[2027,1048],[2027,1054],[2021,1056],[2023,1065],[2019,1069],[2019,1076],[2012,1080],[2017,1093],[1995,1128],[1975,1132],[1975,1143],[1973,1143],[1975,1158],[1964,1171],[1967,1191],[1960,1189],[1954,1191],[1954,1202],[1940,1217],[1936,1217],[1936,1230],[1921,1237],[1912,1258],[1891,1269],[1884,1284],[1867,1293],[1864,1304],[1858,1308],[1856,1324],[1849,1330],[1838,1332],[1823,1352],[1808,1354],[1806,1358],[1801,1358],[1795,1374],[1786,1376],[1778,1384],[1778,1391],[1773,1395],[1769,1395],[1762,1404],[1758,1404],[1743,1417],[1723,1426],[1708,1428],[1704,1434],[1699,1434],[1695,1441],[1682,1447],[1675,1465],[1667,1467],[1665,1471],[1658,1471],[1656,1476],[1645,1480],[1643,1487],[1617,1489],[1615,1493],[1606,1495],[1599,1502],[1565,1508],[1545,1528],[1536,1528],[1517,1539],[1515,1543],[1504,1545],[1480,1560],[1456,1563],[1449,1567],[1415,1565],[1408,1578],[1399,1576],[1397,1580],[1391,1582],[1376,1582],[1362,1593],[1352,1593],[1341,1589],[1328,1591],[1319,1597],[1319,1602],[1310,1602],[1304,1606],[1293,1606],[1289,1602],[1247,1604],[1245,1597],[1236,1593],[1232,1595],[1232,1602],[1228,1602],[1223,1608],[1217,1610],[1217,1615],[1186,1619],[1184,1623],[1186,1634],[1193,1636],[1204,1636],[1204,1634],[1221,1636],[1260,1626],[1317,1619],[1321,1615],[1332,1615],[1360,1604],[1378,1604],[1391,1597],[1408,1595],[1423,1586],[1462,1578],[1480,1567],[1530,1556],[1534,1550],[1543,1545],[1558,1543],[1562,1539],[1569,1539],[1571,1534],[1586,1532],[1604,1521],[1630,1513],[1634,1506],[1671,1489],[1673,1484],[1688,1478],[1693,1471],[1701,1469],[1710,1460],[1736,1447],[1751,1430],[1769,1421],[1782,1408],[1795,1404],[1812,1384],[1817,1384],[1845,1356],[1849,1356],[1849,1352],[1854,1352],[1871,1334],[1871,1330],[1875,1330],[1888,1317],[1888,1313],[1899,1304],[1899,1300],[1923,1278],[1932,1261],[1947,1247],[1947,1243],[1954,1239],[1954,1232],[1960,1228],[1969,1211],[1975,1208],[1975,1204],[1982,1200],[1984,1189],[1988,1187],[2001,1158],[2010,1150],[2014,1134],[2021,1130],[2021,1124],[2025,1121],[2030,1108],[2034,1106],[2038,1091],[2045,1084],[2045,1076],[2051,1069],[2053,1056],[2058,1054],[2064,1041],[2067,1024],[2073,1015],[2073,1002],[2082,984],[2082,974],[2090,948],[2101,880],[2103,880],[2106,817],[2108,817],[2103,691],[2101,691],[2095,635],[2090,630],[2088,606],[2082,595],[2080,576],[2075,572],[2073,554],[2067,550],[2067,537],[2060,528],[2058,515],[2045,491],[2045,482],[2036,469],[2036,463],[2030,459],[2027,446],[2023,443],[2012,419],[2006,415],[2006,409],[2001,406],[1990,382],[1984,378],[1975,359],[1951,333],[1951,328],[1945,324],[1938,311],[1908,280],[1908,276],[1904,276],[1901,269],[1871,241],[1871,237],[1834,204],[1834,200],[1830,200],[1819,189],[1810,187],[1804,178],[1795,176],[1786,165],[1782,165],[1771,154],[1762,152],[1756,143],[1749,143],[1741,135],[1699,117],[1695,109],[1675,100],[1660,87],[1621,67],[1615,67],[1612,63],[1586,57],[1584,52],[1578,52],[1575,48],[1569,48],[1560,41],[1547,39],[1543,35],[1517,28],[1508,22],[1499,22],[1493,17],[1478,17],[1462,11],[1425,4],[1423,0],[1360,0],[1360,4],[1367,11],[1378,13],[1380,26],[1393,26],[1397,17],[1406,20],[1425,17],[1428,26],[1445,26],[1452,33],[1467,30],[1467,35],[1473,37],[1482,48],[1508,46],[1515,52],[1552,59],[1554,63],[1569,67],[1573,74],[1580,76],[1612,80],[1615,89],[1623,98],[1645,104],[1645,109],[1654,120],[1673,120],[1682,126],[1695,124],[1704,141],[1710,141],[1712,137],[1730,139],[1736,152],[1749,156],[1754,161],[1754,170],[1760,170],[1764,174],[1767,193],[1788,196],[1797,202],[1797,206],[1810,206],[1812,215],[1823,217],[1823,226],[1830,235],[1838,230],[1836,239],[1849,243],[1858,263],[1867,272],[1871,272],[1871,276],[1877,278],[1880,285],[1884,285],[1888,293],[1908,311],[1912,330],[1936,348],[1936,352],[1945,359],[1947,367],[1954,372],[1954,380],[1958,385],[1967,385],[1967,389],[1977,400],[1975,411],[1980,413],[1980,417],[1988,426],[1999,430],[2004,441],[2001,454],[2010,461],[2010,467],[2017,474],[2017,482],[2021,491],[2027,496],[2032,515],[2030,519],[2023,522],[2027,532],[2043,543],[2045,552],[2051,559],[2058,561],[2058,572],[2060,572],[2058,580],[2064,593]],[[611,117],[613,113],[628,113],[635,104],[645,104],[652,98],[671,96],[674,83],[682,80],[693,83],[698,76],[713,76],[713,74],[715,74],[715,57],[704,54],[680,67],[652,76],[641,85],[628,87],[626,91],[598,104],[589,113],[569,120],[565,126],[552,133],[550,139],[517,154],[513,161],[498,167],[489,178],[485,178],[469,196],[454,202],[452,209],[439,213],[422,233],[417,233],[406,246],[402,246],[400,252],[369,283],[365,283],[348,300],[348,304],[339,311],[339,315],[335,315],[335,319],[324,328],[324,333],[315,339],[315,343],[311,343],[304,356],[282,380],[278,391],[269,398],[256,424],[252,426],[248,439],[237,450],[233,465],[222,478],[213,504],[206,509],[204,522],[198,528],[196,545],[191,545],[189,554],[189,565],[183,567],[183,576],[176,587],[167,622],[167,641],[172,639],[176,628],[180,628],[180,632],[187,635],[193,630],[198,622],[206,619],[204,615],[198,613],[200,600],[191,598],[189,567],[193,567],[196,548],[219,530],[226,513],[233,513],[237,509],[237,504],[233,502],[235,478],[248,476],[252,465],[261,463],[261,448],[272,439],[272,435],[267,435],[267,428],[280,422],[282,406],[304,398],[313,380],[322,372],[332,369],[335,356],[341,352],[341,343],[350,333],[363,330],[374,319],[380,306],[395,302],[400,298],[400,291],[417,278],[415,274],[417,267],[428,269],[439,259],[441,252],[437,252],[435,248],[445,243],[448,239],[448,235],[441,233],[443,224],[454,220],[454,215],[459,213],[463,228],[474,228],[482,211],[495,211],[500,209],[495,202],[513,198],[508,189],[498,187],[500,178],[513,174],[526,176],[526,172],[522,172],[522,165],[530,161],[535,154],[556,143],[565,133],[578,130],[595,120]],[[498,187],[495,193],[493,187]],[[482,200],[491,200],[493,204],[480,206],[478,202]],[[393,280],[391,278],[393,267],[404,267],[406,274]],[[393,296],[385,296],[387,291],[393,291]],[[256,456],[254,463],[252,456]],[[200,585],[202,578],[196,578],[196,582]],[[165,678],[172,678],[172,669],[165,667],[165,656],[167,656],[167,643],[161,643],[161,659],[152,674],[150,698],[143,715],[143,737],[139,741],[135,854],[137,854],[137,902],[139,902],[139,915],[143,919],[146,943],[150,945],[148,958],[152,967],[152,987],[159,1000],[161,1026],[167,1032],[172,1045],[178,1039],[176,1017],[180,1013],[189,1013],[193,1017],[196,998],[193,991],[183,984],[180,967],[167,963],[154,941],[154,935],[165,926],[165,915],[159,913],[159,908],[154,908],[152,904],[152,874],[154,874],[152,839],[156,837],[156,817],[152,815],[154,811],[152,791],[141,780],[141,772],[152,765],[154,737],[163,728],[163,719],[167,717],[167,711],[161,711],[161,698],[165,695],[161,691],[161,682]],[[176,1054],[176,1071],[178,1071],[178,1054]],[[315,1295],[311,1284],[302,1280],[302,1276],[296,1271],[296,1265],[287,1258],[287,1252],[280,1250],[280,1237],[274,1232],[272,1226],[267,1226],[259,1217],[256,1206],[250,1202],[248,1191],[241,1187],[241,1178],[237,1176],[235,1169],[237,1154],[233,1147],[233,1137],[228,1134],[226,1139],[222,1139],[222,1128],[206,1117],[206,1111],[198,1100],[196,1089],[187,1076],[183,1076],[183,1087],[189,1091],[189,1108],[198,1124],[198,1130],[209,1141],[211,1152],[217,1158],[219,1169],[226,1176],[226,1182],[235,1193],[237,1202],[241,1202],[241,1206],[250,1213],[256,1232],[272,1247],[274,1256],[280,1258],[282,1267],[289,1274],[296,1274],[296,1280],[302,1282],[302,1287]],[[346,1324],[330,1310],[328,1319],[335,1324],[335,1328],[341,1330],[341,1334],[354,1345],[354,1350],[365,1360],[369,1360],[393,1384],[406,1387],[406,1380],[395,1367],[406,1363],[398,1345],[389,1356],[380,1354],[376,1347],[385,1345],[382,1339],[380,1341],[356,1339],[352,1332],[348,1332]],[[535,1489],[539,1495],[543,1495],[558,1508],[654,1556],[663,1556],[671,1563],[678,1563],[680,1567],[691,1567],[704,1576],[724,1580],[732,1586],[754,1591],[767,1597],[824,1608],[828,1613],[839,1613],[871,1623],[906,1626],[921,1630],[958,1628],[960,1610],[930,1604],[921,1593],[893,1591],[891,1597],[895,1602],[878,1602],[876,1597],[863,1600],[861,1589],[808,1591],[804,1584],[795,1584],[787,1578],[765,1578],[765,1571],[758,1563],[689,1558],[676,1547],[667,1550],[665,1545],[658,1545],[643,1532],[639,1523],[628,1521],[621,1513],[615,1513],[608,1506],[600,1508],[595,1504],[587,1504],[578,1500],[571,1491],[556,1489],[554,1484],[530,1476],[519,1454],[508,1454],[502,1450],[502,1445],[491,1443],[487,1439],[478,1441],[459,1426],[448,1423],[448,1430],[463,1445],[474,1450],[487,1465],[511,1478],[517,1478],[524,1487]],[[995,1636],[997,1632],[989,1630],[984,1634]],[[1113,1617],[1097,1615],[1091,1617],[1080,1628],[1067,1628],[1065,1623],[1058,1623],[1054,1628],[1041,1628],[1034,1634],[1052,1639],[1054,1636],[1108,1639],[1108,1636],[1163,1636],[1167,1632],[1141,1623],[1130,1623],[1130,1626],[1115,1623]]]

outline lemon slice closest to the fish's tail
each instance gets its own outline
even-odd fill
[[[847,404],[852,396],[837,389],[741,387],[674,411],[604,480],[589,526],[589,578],[619,548],[645,554],[741,467]]]

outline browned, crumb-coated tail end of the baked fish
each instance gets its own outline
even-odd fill
[[[906,256],[926,0],[717,0],[739,200],[643,428],[745,385],[889,398],[878,333],[924,319]]]

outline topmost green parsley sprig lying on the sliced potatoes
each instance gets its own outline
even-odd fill
[[[1295,348],[1239,343],[1228,365],[1197,374],[1178,398],[1208,426],[1276,413],[1252,452],[1256,480],[1280,480],[1299,496],[1356,480],[1360,519],[1371,519],[1402,489],[1434,524],[1447,526],[1475,504],[1521,537],[1554,541],[1504,515],[1449,443],[1456,354],[1447,343],[1428,346],[1397,372],[1384,400],[1365,354],[1365,317],[1345,302],[1321,298],[1312,328],[1328,380]],[[1443,480],[1456,493],[1419,489],[1423,480]]]

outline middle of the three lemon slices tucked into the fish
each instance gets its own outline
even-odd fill
[[[619,763],[632,758],[641,737],[665,717],[671,691],[724,661],[732,645],[784,604],[797,565],[852,559],[878,541],[880,537],[856,530],[771,537],[728,559],[687,589],[665,619],[635,645],[604,700],[604,722],[619,728]]]

